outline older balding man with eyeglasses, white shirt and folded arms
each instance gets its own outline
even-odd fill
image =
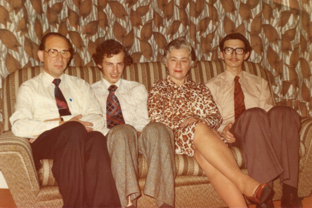
[[[59,33],[43,36],[38,57],[44,72],[22,83],[12,132],[29,138],[36,168],[53,159],[63,207],[120,207],[110,169],[100,104],[83,79],[64,74],[73,54]]]

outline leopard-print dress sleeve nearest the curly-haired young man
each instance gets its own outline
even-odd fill
[[[165,95],[163,95],[165,96]],[[165,115],[164,102],[161,89],[158,87],[152,87],[149,91],[147,99],[147,109],[150,122],[161,122],[167,125],[171,129],[179,126],[180,121],[174,121]]]

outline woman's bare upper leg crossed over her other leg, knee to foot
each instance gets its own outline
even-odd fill
[[[252,196],[254,194],[256,188],[260,185],[260,183],[251,178],[250,176],[241,172],[231,150],[221,139],[219,139],[210,130],[210,128],[208,128],[206,124],[202,122],[199,122],[197,124],[194,133],[193,144],[194,149],[202,155],[202,157],[207,161],[207,163],[209,163],[219,173],[221,173],[224,177],[226,177],[229,181],[231,181],[233,185],[235,185],[241,193],[243,193],[246,196]],[[204,169],[206,169],[206,171],[208,172],[208,173],[205,172],[207,175],[216,173],[216,170],[214,169],[210,168]],[[217,182],[217,180],[215,181]],[[233,196],[232,190],[231,193]],[[223,193],[219,193],[219,195],[221,197],[222,195],[225,196],[226,198],[229,197],[228,195]],[[235,198],[240,197],[241,196],[235,196]]]

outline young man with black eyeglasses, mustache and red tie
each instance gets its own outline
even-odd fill
[[[248,174],[273,186],[280,178],[281,207],[302,207],[298,197],[300,116],[292,108],[274,106],[266,80],[242,71],[251,46],[240,33],[219,44],[225,71],[207,81],[222,115],[218,129],[228,146],[241,146]],[[256,207],[273,207],[271,200]]]

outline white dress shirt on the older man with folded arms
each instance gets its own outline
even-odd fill
[[[10,117],[12,132],[21,137],[35,138],[46,130],[59,126],[59,121],[46,121],[60,117],[54,97],[55,78],[43,72],[22,83],[18,89],[15,112]],[[62,116],[64,121],[79,114],[81,121],[93,123],[93,130],[100,130],[105,122],[100,104],[97,102],[90,85],[85,80],[62,74],[59,85],[69,110],[70,116]]]

